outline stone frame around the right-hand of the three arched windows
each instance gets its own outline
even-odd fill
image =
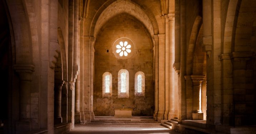
[[[138,75],[141,74],[142,76],[142,92],[138,93]],[[142,71],[138,71],[135,73],[134,76],[134,96],[135,97],[145,97],[145,74]]]

